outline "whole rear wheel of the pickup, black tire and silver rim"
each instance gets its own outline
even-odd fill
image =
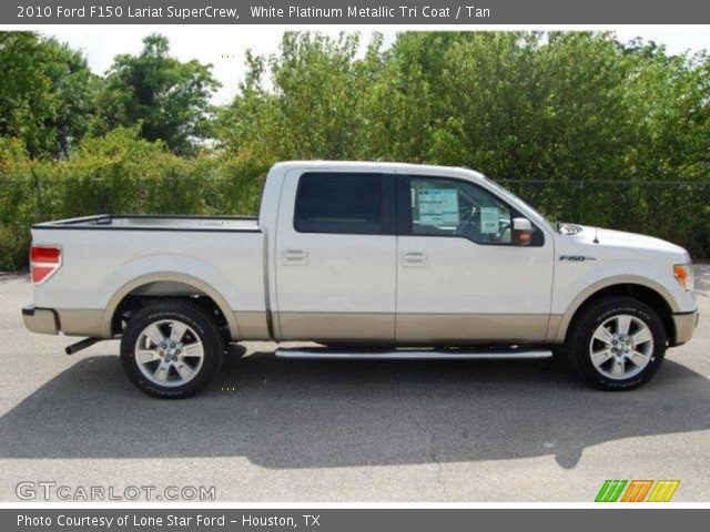
[[[224,342],[214,320],[189,301],[152,303],[129,321],[121,362],[131,382],[162,399],[202,390],[222,361]]]

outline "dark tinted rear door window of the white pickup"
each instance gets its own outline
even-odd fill
[[[381,234],[382,195],[381,174],[303,174],[294,228],[300,233]]]

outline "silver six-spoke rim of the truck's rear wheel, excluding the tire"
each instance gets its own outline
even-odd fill
[[[175,387],[196,377],[204,361],[197,334],[174,319],[145,327],[135,342],[135,361],[141,372],[159,386]]]

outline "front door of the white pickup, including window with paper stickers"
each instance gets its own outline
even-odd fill
[[[552,239],[516,237],[514,207],[463,180],[398,177],[399,342],[542,341]]]

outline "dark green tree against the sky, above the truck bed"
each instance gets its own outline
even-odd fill
[[[118,55],[99,98],[98,133],[141,125],[149,141],[163,141],[178,154],[193,154],[209,135],[210,96],[220,86],[212,65],[170,55],[168,39],[143,39],[139,55]]]

